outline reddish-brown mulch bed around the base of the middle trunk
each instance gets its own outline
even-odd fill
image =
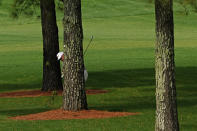
[[[71,111],[64,111],[62,109],[57,109],[57,110],[51,110],[51,111],[41,112],[36,114],[10,117],[10,119],[15,119],[15,120],[98,119],[98,118],[121,117],[121,116],[137,115],[137,114],[139,113],[108,112],[108,111],[97,111],[97,110],[83,110],[83,111],[71,112]]]

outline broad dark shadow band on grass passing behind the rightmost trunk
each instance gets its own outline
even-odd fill
[[[196,78],[197,67],[176,68],[177,86],[197,86]],[[96,89],[141,86],[155,86],[154,68],[89,72],[87,81],[87,87]],[[188,90],[188,88],[183,89]],[[196,89],[192,89],[196,91]]]

